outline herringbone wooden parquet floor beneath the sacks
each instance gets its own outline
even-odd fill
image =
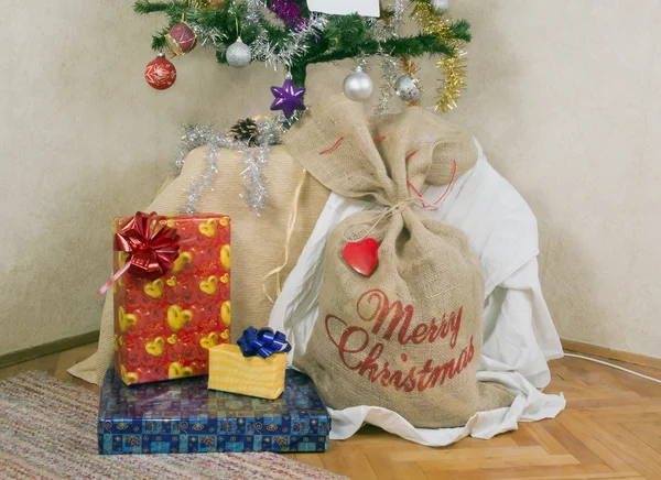
[[[10,367],[0,370],[0,378],[45,370],[98,390],[66,373],[95,347]],[[661,370],[620,364],[661,379]],[[423,447],[366,426],[348,440],[332,441],[325,454],[292,456],[355,480],[661,480],[661,384],[573,358],[551,362],[551,371],[546,392],[564,392],[567,399],[555,419],[446,448]]]

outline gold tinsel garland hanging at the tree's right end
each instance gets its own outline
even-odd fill
[[[445,72],[445,79],[436,88],[436,108],[449,111],[457,106],[462,90],[466,88],[466,52],[463,50],[465,42],[453,39],[452,19],[442,19],[430,0],[411,0],[415,20],[424,33],[437,33],[441,39],[454,50],[454,55],[442,55],[436,62],[436,67]]]

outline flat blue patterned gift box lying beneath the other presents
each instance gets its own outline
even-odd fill
[[[99,452],[325,451],[330,417],[312,380],[286,371],[264,400],[207,390],[207,378],[127,386],[109,370],[101,388]]]

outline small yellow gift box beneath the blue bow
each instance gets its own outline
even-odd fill
[[[274,400],[284,392],[286,353],[243,357],[236,345],[209,349],[209,390]]]

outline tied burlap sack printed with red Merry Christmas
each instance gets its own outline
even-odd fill
[[[510,405],[505,389],[476,380],[479,260],[459,230],[420,212],[407,184],[447,184],[453,160],[457,175],[472,168],[472,137],[420,108],[366,118],[360,105],[334,98],[308,112],[285,145],[332,190],[389,207],[348,217],[326,243],[319,317],[294,360],[326,404],[380,406],[430,428]],[[380,244],[370,276],[343,258],[347,242],[366,237]]]

